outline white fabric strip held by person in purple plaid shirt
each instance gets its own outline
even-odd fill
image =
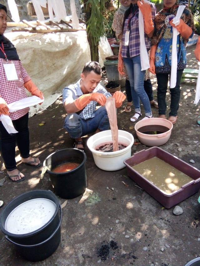
[[[144,0],[144,2],[150,4],[150,2],[147,0]],[[138,21],[139,21],[139,34],[140,34],[140,61],[142,67],[141,71],[143,71],[150,68],[150,65],[149,65],[149,57],[144,39],[144,19],[140,9],[139,9]]]

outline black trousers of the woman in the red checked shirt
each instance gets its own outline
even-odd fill
[[[28,158],[30,156],[28,113],[17,120],[12,120],[12,123],[18,133],[9,134],[2,122],[0,122],[0,153],[8,171],[17,169],[15,161],[16,143],[22,158]]]

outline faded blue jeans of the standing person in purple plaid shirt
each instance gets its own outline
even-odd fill
[[[151,105],[144,90],[145,70],[141,71],[140,55],[131,58],[123,57],[131,85],[131,95],[136,112],[140,112],[140,100],[143,103],[145,115],[152,115]]]

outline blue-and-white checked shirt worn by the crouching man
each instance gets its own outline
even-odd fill
[[[77,83],[69,85],[68,87],[65,87],[63,89],[63,104],[67,99],[69,99],[69,97],[75,100],[78,99],[81,95],[83,95],[83,92],[80,88],[80,81],[81,79],[78,80]],[[101,84],[98,84],[97,87],[93,90],[93,92],[103,93],[106,96],[106,98],[111,96],[111,94]],[[96,101],[91,101],[79,114],[80,117],[83,120],[94,117],[94,111],[96,109],[96,105],[97,105]]]

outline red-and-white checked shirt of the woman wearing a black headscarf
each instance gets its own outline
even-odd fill
[[[9,60],[14,63],[18,80],[7,80],[3,64],[5,59],[0,58],[0,95],[7,104],[26,98],[26,89],[23,79],[28,75],[20,60]],[[16,120],[29,111],[29,107],[10,113],[11,120]]]

